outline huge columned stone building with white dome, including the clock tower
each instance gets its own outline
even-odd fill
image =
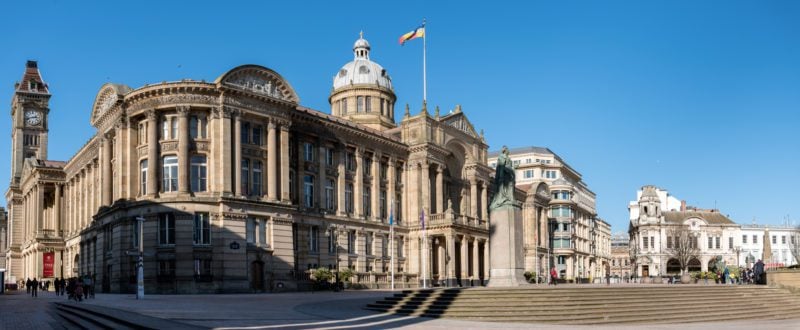
[[[435,285],[484,283],[488,145],[460,106],[395,116],[370,51],[359,38],[336,72],[330,114],[258,65],[213,82],[105,84],[87,111],[96,133],[67,161],[48,160],[51,94],[29,61],[11,104],[9,275],[91,275],[102,292],[132,292],[141,234],[147,292],[302,289],[317,267],[386,287],[390,249],[401,285],[418,285],[423,260]]]

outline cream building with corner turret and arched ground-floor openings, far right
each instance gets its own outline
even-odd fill
[[[698,249],[689,259],[688,271],[714,269],[719,260],[736,264],[735,240],[739,225],[719,210],[704,210],[686,205],[655,186],[644,186],[630,211],[630,248],[635,274],[639,277],[680,274],[680,263],[670,249],[680,230],[689,231],[692,246]]]

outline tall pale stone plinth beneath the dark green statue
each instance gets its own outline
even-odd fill
[[[522,210],[507,206],[492,210],[489,216],[490,287],[526,284],[522,246]]]

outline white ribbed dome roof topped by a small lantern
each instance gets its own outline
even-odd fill
[[[339,69],[333,76],[333,89],[349,85],[377,85],[392,89],[392,78],[380,64],[369,59],[369,42],[363,33],[353,45],[354,59]]]

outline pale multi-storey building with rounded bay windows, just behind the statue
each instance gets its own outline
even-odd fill
[[[549,274],[552,264],[563,279],[602,276],[611,256],[611,229],[597,218],[595,194],[581,174],[547,148],[512,148],[509,153],[517,188],[526,192],[525,269]],[[489,154],[490,167],[498,155]]]

